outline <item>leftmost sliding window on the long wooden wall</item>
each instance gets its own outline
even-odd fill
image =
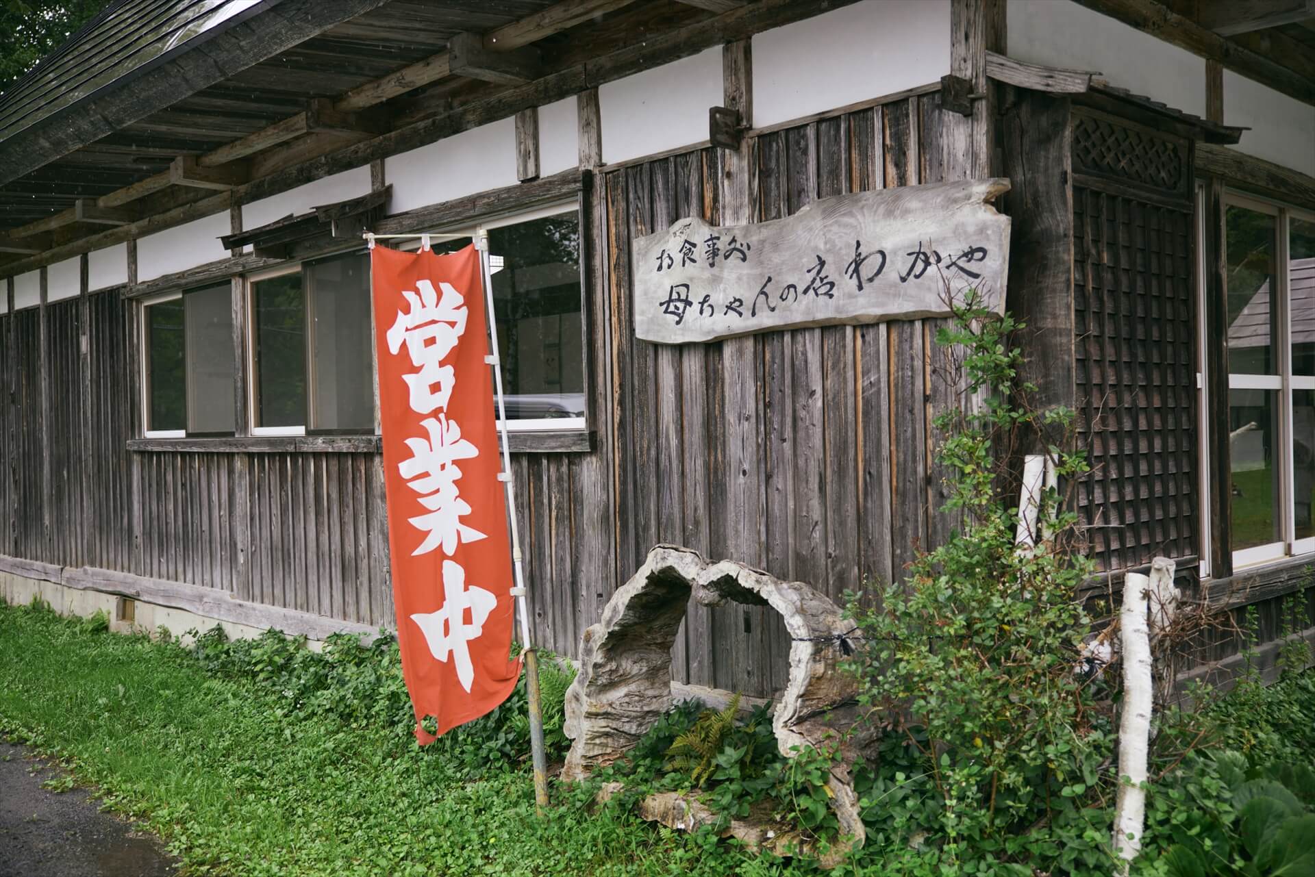
[[[231,435],[233,287],[162,296],[143,308],[146,435]]]

